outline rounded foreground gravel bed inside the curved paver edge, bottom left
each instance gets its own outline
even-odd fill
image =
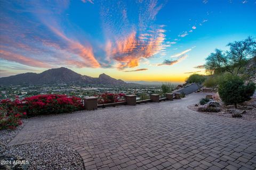
[[[29,161],[28,169],[84,169],[83,160],[73,148],[59,143],[29,143],[8,147],[6,156]]]

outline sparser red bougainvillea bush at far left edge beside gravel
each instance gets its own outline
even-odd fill
[[[22,112],[22,107],[19,106],[20,103],[19,98],[13,101],[9,99],[0,101],[0,130],[14,130],[22,124],[21,117],[25,117],[26,112]]]

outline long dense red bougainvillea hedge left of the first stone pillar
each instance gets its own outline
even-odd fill
[[[28,115],[59,114],[83,109],[81,98],[67,95],[37,95],[22,100]]]

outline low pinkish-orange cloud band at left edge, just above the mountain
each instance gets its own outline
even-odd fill
[[[3,58],[4,60],[18,62],[21,64],[33,66],[33,67],[51,67],[48,64],[45,64],[44,62],[41,62],[39,60],[35,60],[33,58],[29,58],[20,54],[15,54],[11,52],[7,52],[5,50],[0,50],[0,58]]]

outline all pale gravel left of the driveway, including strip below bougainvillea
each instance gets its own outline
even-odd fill
[[[28,143],[6,147],[26,125],[27,119],[16,130],[0,131],[0,157],[6,160],[9,157],[25,159],[29,161],[28,169],[84,169],[83,160],[78,152],[66,145],[59,143]],[[6,167],[2,167],[6,169]],[[1,169],[1,165],[0,165]]]

